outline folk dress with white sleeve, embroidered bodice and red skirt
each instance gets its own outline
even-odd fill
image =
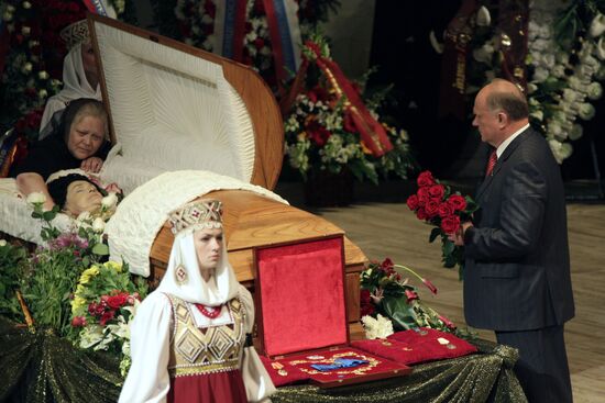
[[[252,309],[243,287],[216,318],[194,303],[151,293],[131,329],[133,366],[120,402],[248,402],[241,356]]]

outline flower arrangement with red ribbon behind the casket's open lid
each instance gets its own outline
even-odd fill
[[[330,59],[328,43],[320,35],[314,35],[306,43],[304,56],[307,61],[301,69],[307,71],[299,71],[298,80],[295,79],[290,88],[293,103],[285,110],[289,165],[305,180],[318,173],[338,175],[342,171],[350,171],[360,181],[367,179],[374,183],[378,182],[380,175],[385,177],[391,172],[406,178],[415,165],[407,132],[380,122],[378,110],[386,93],[364,97],[360,89],[364,82],[351,83],[344,77],[339,81],[332,75],[333,68],[320,67],[326,63],[336,65]],[[375,153],[364,141],[362,132],[371,125],[356,119],[356,107],[351,107],[353,100],[343,88],[350,88],[354,92],[350,94],[363,100],[371,119],[385,133],[384,144],[389,146],[385,146],[382,154]]]

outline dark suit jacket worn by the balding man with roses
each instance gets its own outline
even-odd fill
[[[544,138],[531,128],[518,135],[475,200],[464,234],[466,323],[528,331],[573,317],[564,190]]]

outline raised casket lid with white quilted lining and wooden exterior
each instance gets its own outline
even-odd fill
[[[254,70],[101,15],[88,23],[111,139],[121,145],[106,161],[107,179],[199,169],[275,187],[283,123]]]

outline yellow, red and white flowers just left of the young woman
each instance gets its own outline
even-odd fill
[[[84,349],[119,354],[120,371],[125,377],[131,363],[130,324],[146,294],[146,282],[133,279],[127,265],[92,265],[79,277],[70,303],[70,338]]]

